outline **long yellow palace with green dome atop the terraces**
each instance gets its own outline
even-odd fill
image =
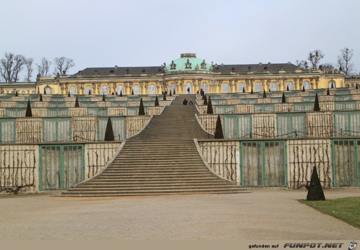
[[[38,77],[35,93],[71,95],[160,95],[175,90],[176,94],[266,92],[345,87],[342,71],[304,70],[291,62],[258,64],[214,64],[196,57],[195,53],[147,67],[96,67],[80,70],[74,75]],[[1,87],[1,86],[0,86]],[[11,93],[9,87],[5,93]],[[20,88],[22,89],[22,88]],[[19,90],[20,90],[19,89]],[[24,90],[31,94],[33,90]],[[21,93],[21,91],[19,92]]]

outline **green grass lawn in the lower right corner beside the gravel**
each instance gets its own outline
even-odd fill
[[[348,197],[336,200],[299,201],[360,229],[360,197]]]

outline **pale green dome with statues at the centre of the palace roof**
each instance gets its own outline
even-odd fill
[[[191,65],[190,64],[186,65],[186,63],[190,63]],[[205,64],[201,65],[202,63],[205,63],[206,65]],[[196,65],[199,66],[199,69],[196,69]],[[180,58],[170,62],[169,64],[166,65],[166,67],[167,67],[167,72],[184,71],[184,70],[210,71],[211,64],[201,58],[197,58],[196,54],[194,53],[186,53],[186,54],[180,54]]]

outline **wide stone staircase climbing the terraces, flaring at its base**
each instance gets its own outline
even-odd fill
[[[129,138],[102,173],[62,196],[146,196],[247,193],[209,171],[193,138],[212,138],[198,124],[195,105],[182,105],[180,95],[141,133]]]

